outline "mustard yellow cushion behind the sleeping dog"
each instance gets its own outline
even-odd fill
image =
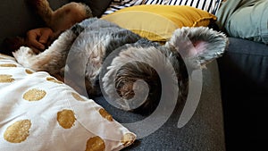
[[[216,17],[186,5],[145,4],[121,9],[102,19],[130,29],[141,37],[163,42],[171,38],[175,29],[208,26]]]

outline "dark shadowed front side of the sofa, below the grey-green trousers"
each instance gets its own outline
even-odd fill
[[[218,65],[227,150],[267,150],[268,46],[230,38]]]

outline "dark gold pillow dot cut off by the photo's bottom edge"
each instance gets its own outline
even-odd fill
[[[96,136],[89,138],[87,142],[86,151],[104,151],[105,150],[105,141]]]

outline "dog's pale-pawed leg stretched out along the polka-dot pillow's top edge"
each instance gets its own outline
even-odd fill
[[[35,55],[29,47],[25,46],[21,46],[13,55],[17,62],[24,67],[34,71],[57,73],[64,67],[72,43],[82,31],[83,28],[80,25],[74,25],[71,29],[63,32],[51,46],[38,55]]]

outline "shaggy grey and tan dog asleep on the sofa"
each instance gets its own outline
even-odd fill
[[[89,97],[102,92],[123,110],[145,112],[155,109],[163,89],[178,93],[180,103],[185,100],[188,76],[221,56],[227,43],[222,33],[199,27],[176,29],[160,45],[112,22],[89,18],[38,55],[25,46],[13,55],[24,67],[64,76],[81,94],[84,89]],[[171,85],[162,87],[163,82]]]

